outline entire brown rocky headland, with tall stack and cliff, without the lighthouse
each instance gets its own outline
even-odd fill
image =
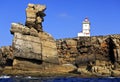
[[[120,35],[55,40],[44,32],[46,6],[28,4],[25,25],[12,23],[11,46],[0,48],[1,75],[120,76]]]

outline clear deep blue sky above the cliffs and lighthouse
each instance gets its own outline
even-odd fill
[[[43,30],[55,39],[77,37],[86,17],[91,36],[120,34],[120,0],[1,0],[0,47],[12,45],[11,23],[25,24],[28,3],[46,5]]]

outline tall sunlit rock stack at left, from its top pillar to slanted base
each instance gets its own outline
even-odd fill
[[[54,38],[43,31],[42,22],[45,16],[44,5],[28,4],[26,23],[12,23],[11,34],[14,35],[13,55],[19,58],[39,60],[47,63],[59,63]],[[17,63],[15,62],[14,65]]]

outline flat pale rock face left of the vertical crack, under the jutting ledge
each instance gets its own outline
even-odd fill
[[[39,37],[14,34],[14,56],[42,60],[41,41]]]

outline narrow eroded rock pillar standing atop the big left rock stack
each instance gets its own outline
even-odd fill
[[[45,5],[28,4],[26,8],[26,26],[35,28],[38,32],[43,31],[42,22],[44,21],[45,9]]]

